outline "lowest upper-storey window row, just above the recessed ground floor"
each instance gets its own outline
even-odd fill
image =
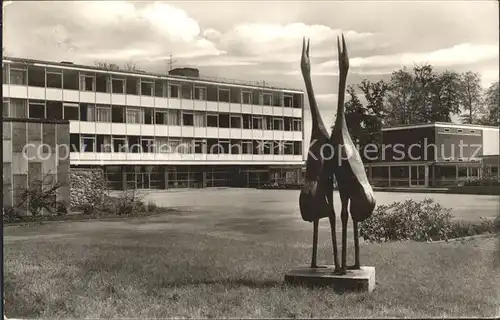
[[[302,141],[71,134],[71,152],[302,155]]]

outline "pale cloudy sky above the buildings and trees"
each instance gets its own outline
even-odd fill
[[[202,76],[304,89],[302,38],[325,124],[338,91],[336,37],[348,84],[387,80],[403,66],[474,71],[498,81],[497,1],[4,1],[4,55],[145,71],[196,67]],[[307,99],[306,99],[307,100]],[[305,106],[306,141],[310,131]]]

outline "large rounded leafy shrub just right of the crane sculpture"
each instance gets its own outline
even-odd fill
[[[381,205],[359,225],[367,241],[431,241],[448,239],[452,230],[451,210],[433,199],[406,200]]]

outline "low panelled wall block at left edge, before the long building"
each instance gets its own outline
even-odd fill
[[[56,200],[69,206],[69,122],[4,118],[3,204],[16,207],[34,181],[59,182]],[[46,212],[44,212],[46,213]]]

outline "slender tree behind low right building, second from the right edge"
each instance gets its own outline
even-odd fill
[[[460,86],[460,105],[464,110],[462,123],[477,124],[483,109],[481,77],[478,73],[468,71],[462,75]]]

